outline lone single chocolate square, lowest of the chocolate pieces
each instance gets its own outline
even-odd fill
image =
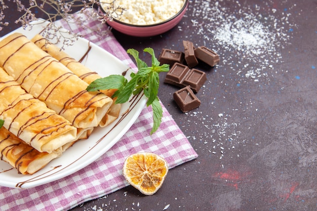
[[[189,86],[173,94],[174,100],[181,111],[187,112],[201,105],[201,101],[194,95]]]

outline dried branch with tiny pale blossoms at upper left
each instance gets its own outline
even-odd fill
[[[47,39],[54,38],[57,41],[60,41],[63,37],[63,46],[71,45],[74,40],[80,37],[80,35],[73,31],[69,31],[66,36],[65,31],[54,24],[56,20],[63,19],[68,25],[75,23],[82,28],[89,28],[89,26],[85,25],[87,20],[96,18],[100,22],[105,23],[113,18],[119,18],[125,10],[121,7],[114,7],[113,3],[115,0],[111,3],[99,0],[29,0],[23,1],[23,3],[20,0],[6,1],[16,3],[17,12],[20,12],[22,15],[15,21],[15,23],[21,24],[24,29],[32,29],[32,26],[34,25],[33,21],[39,20],[35,13],[42,14],[43,17],[41,18],[43,18],[43,22],[48,22],[49,24],[43,29],[41,35]],[[100,12],[100,3],[108,5],[106,10]],[[9,24],[8,22],[4,22],[4,11],[7,8],[5,1],[0,0],[0,30]],[[75,15],[75,12],[83,14],[85,18],[83,18],[83,16]]]

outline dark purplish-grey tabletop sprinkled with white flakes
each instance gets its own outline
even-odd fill
[[[72,210],[317,210],[316,20],[313,0],[191,1],[162,35],[113,31],[125,49],[156,56],[183,51],[182,40],[219,54],[215,67],[196,67],[207,81],[188,113],[160,76],[159,97],[199,157],[170,170],[152,196],[126,187]]]

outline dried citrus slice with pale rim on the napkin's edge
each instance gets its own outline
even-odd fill
[[[127,181],[144,195],[152,195],[159,190],[167,173],[166,160],[149,152],[130,155],[123,167]]]

